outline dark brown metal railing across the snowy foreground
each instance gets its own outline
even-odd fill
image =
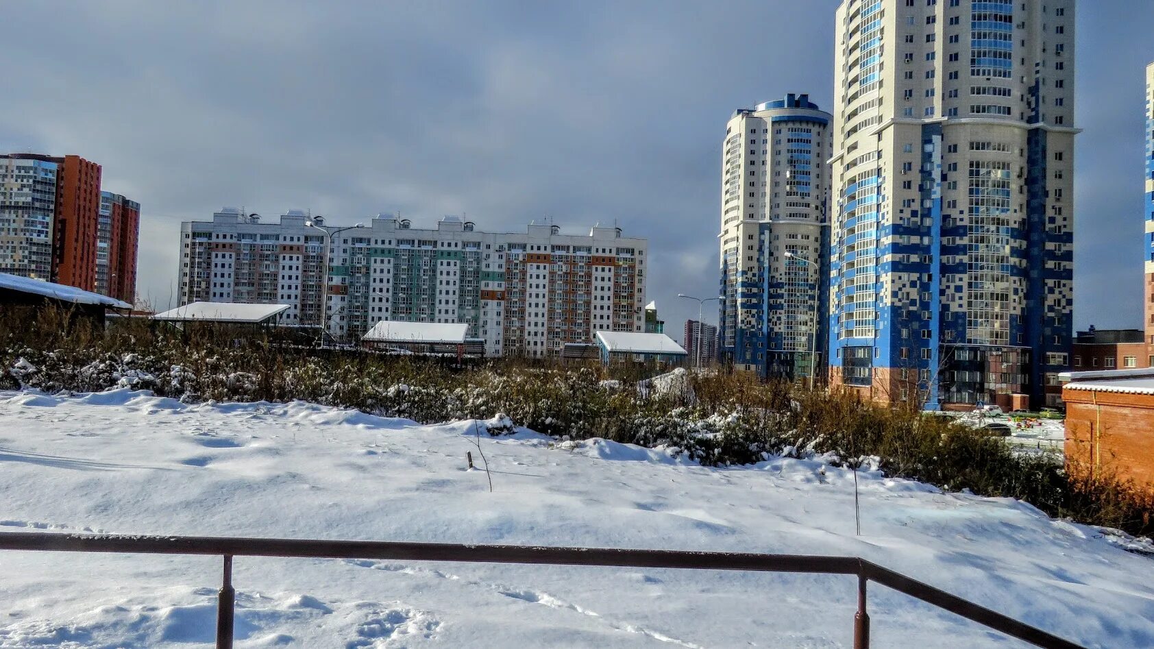
[[[855,557],[373,540],[68,535],[52,532],[0,532],[0,550],[111,552],[122,554],[208,554],[223,557],[224,576],[217,610],[218,649],[231,649],[233,642],[235,590],[232,587],[232,562],[234,557],[388,559],[394,561],[614,566],[630,568],[856,575],[857,612],[854,616],[855,649],[869,649],[870,619],[865,610],[865,600],[867,584],[871,581],[1037,647],[1057,649],[1079,648],[1073,642]]]

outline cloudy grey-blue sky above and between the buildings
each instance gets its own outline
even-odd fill
[[[649,298],[680,338],[697,308],[676,294],[717,292],[726,121],[786,92],[830,106],[837,3],[23,2],[0,22],[0,150],[103,164],[143,206],[157,306],[180,221],[226,204],[512,231],[550,216],[649,237]],[[1149,0],[1079,6],[1079,327],[1141,326],[1152,24]]]

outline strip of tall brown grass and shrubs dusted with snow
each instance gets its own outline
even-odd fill
[[[20,359],[21,367],[14,368]],[[31,367],[31,370],[30,370]],[[1154,495],[1112,477],[1070,476],[1047,456],[947,418],[809,391],[747,374],[685,374],[637,389],[638,368],[489,359],[474,366],[286,345],[270,331],[148,320],[107,329],[61,311],[0,311],[0,387],[150,389],[185,401],[306,400],[420,423],[505,413],[572,439],[672,446],[707,465],[804,449],[946,490],[1018,498],[1050,515],[1154,532]]]

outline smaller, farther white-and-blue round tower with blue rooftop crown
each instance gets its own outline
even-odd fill
[[[736,368],[796,379],[825,364],[831,121],[788,95],[726,127],[719,344]]]

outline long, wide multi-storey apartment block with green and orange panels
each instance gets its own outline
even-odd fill
[[[306,225],[315,221],[290,211],[264,224],[225,209],[183,223],[181,304],[288,304],[282,322],[317,326],[323,292],[328,330],[343,340],[382,320],[464,322],[487,353],[531,357],[644,327],[647,244],[615,227],[492,233],[450,216],[420,230],[390,215],[365,227]]]

